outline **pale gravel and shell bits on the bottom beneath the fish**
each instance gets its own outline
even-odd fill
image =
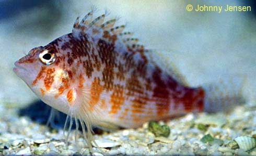
[[[17,115],[17,111],[15,104],[0,104],[0,155],[89,154],[81,134],[75,144],[73,130],[72,139],[66,146],[62,128],[49,128],[27,116]],[[167,138],[156,137],[149,132],[148,123],[137,129],[103,132],[95,135],[100,150],[94,147],[93,154],[256,155],[253,138],[256,136],[255,112],[255,106],[244,105],[229,113],[189,113],[159,122],[170,127]],[[209,136],[210,140],[207,140]]]

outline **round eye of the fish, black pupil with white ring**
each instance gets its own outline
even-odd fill
[[[39,54],[39,59],[44,65],[48,66],[56,60],[56,55],[53,53],[53,51],[43,50]]]

